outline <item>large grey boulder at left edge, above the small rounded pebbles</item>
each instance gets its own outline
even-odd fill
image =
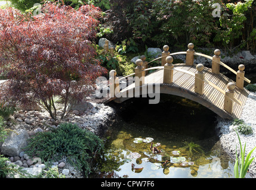
[[[17,132],[17,134],[16,134]],[[29,134],[25,129],[17,129],[16,132],[10,132],[1,147],[1,152],[7,156],[18,156],[21,148],[27,146]]]

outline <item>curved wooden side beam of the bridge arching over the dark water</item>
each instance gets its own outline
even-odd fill
[[[157,86],[158,85],[158,86]],[[146,89],[150,89],[149,93]],[[198,93],[195,93],[193,91],[186,90],[184,88],[175,86],[175,85],[169,85],[169,84],[144,84],[140,87],[134,87],[130,88],[129,90],[121,91],[121,93],[118,94],[118,97],[113,98],[112,100],[116,103],[122,103],[125,100],[131,99],[132,97],[151,97],[152,99],[155,99],[157,102],[157,93],[155,91],[158,91],[159,98],[160,94],[171,94],[175,96],[184,97],[186,99],[192,100],[194,102],[197,102],[208,109],[212,110],[212,112],[216,113],[218,116],[220,116],[223,119],[234,119],[238,118],[236,115],[231,115],[230,113],[226,112],[226,110],[223,109],[224,102],[222,107],[215,106],[214,103],[210,102],[207,97],[203,97]],[[224,96],[224,94],[223,94]],[[110,100],[110,101],[112,101]]]

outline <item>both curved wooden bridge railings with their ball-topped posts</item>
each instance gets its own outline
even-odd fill
[[[196,53],[195,50],[193,50],[194,45],[192,43],[189,43],[188,45],[189,49],[186,52],[176,52],[176,53],[169,53],[169,47],[167,45],[164,46],[164,51],[162,52],[162,56],[159,58],[156,58],[150,62],[156,61],[158,59],[161,59],[161,65],[162,66],[155,66],[152,68],[148,68],[148,64],[150,62],[146,62],[146,57],[141,56],[141,59],[137,59],[135,62],[137,67],[135,68],[135,72],[127,75],[125,77],[122,77],[119,79],[116,77],[116,71],[112,70],[110,71],[110,97],[115,97],[115,94],[120,93],[119,88],[119,80],[122,80],[123,78],[127,78],[129,76],[135,75],[135,87],[140,87],[144,84],[144,77],[147,74],[147,72],[151,69],[164,69],[164,76],[163,81],[165,84],[171,84],[173,80],[173,74],[174,71],[184,72],[186,74],[192,75],[195,77],[195,93],[203,95],[204,90],[204,84],[209,84],[212,87],[214,87],[216,90],[220,91],[222,94],[224,94],[224,110],[232,114],[233,112],[233,102],[238,103],[241,105],[242,103],[236,99],[235,96],[235,87],[243,89],[243,83],[244,80],[250,83],[251,81],[244,77],[245,72],[243,71],[245,69],[244,65],[239,65],[239,71],[234,71],[232,68],[224,64],[220,61],[220,50],[214,51],[214,56],[208,56],[204,55],[202,53]],[[225,68],[232,71],[234,74],[236,74],[236,84],[235,83],[228,83],[227,84],[227,90],[224,91],[217,85],[211,83],[211,81],[208,81],[205,79],[205,73],[203,72],[204,66],[202,64],[196,65],[197,72],[193,73],[190,71],[186,71],[184,69],[178,69],[174,68],[174,65],[172,64],[173,58],[171,55],[178,55],[178,54],[186,54],[186,65],[192,66],[194,65],[194,55],[204,56],[206,58],[209,58],[212,60],[212,73],[214,74],[220,74],[220,65],[223,65]]]

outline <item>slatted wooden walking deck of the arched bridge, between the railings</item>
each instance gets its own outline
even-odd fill
[[[193,73],[196,73],[196,65],[194,66],[186,66],[185,64],[175,64],[174,68],[180,68],[184,69],[186,71],[190,71]],[[208,81],[211,81],[218,87],[220,87],[223,90],[227,90],[227,84],[230,82],[233,82],[230,78],[224,76],[223,74],[213,74],[211,72],[211,68],[204,68],[203,72],[205,72],[205,79]],[[164,69],[158,69],[145,77],[144,84],[163,84],[163,76],[164,76]],[[187,91],[188,93],[196,94],[195,96],[202,96],[205,101],[208,101],[209,105],[214,105],[223,110],[223,112],[226,112],[224,110],[224,94],[212,87],[209,84],[205,83],[203,95],[195,93],[195,77],[192,75],[186,74],[184,72],[179,72],[174,70],[174,77],[173,77],[173,83],[172,84],[165,84],[170,86],[176,86],[178,88],[181,88],[183,91]],[[121,93],[124,91],[127,91],[131,88],[135,88],[135,83],[129,85],[126,88],[123,88],[121,90]],[[236,87],[235,88],[235,98],[238,99],[240,102],[242,102],[242,105],[238,105],[238,103],[233,103],[233,113],[230,115],[232,118],[240,118],[240,115],[242,114],[243,106],[245,105],[246,99],[248,97],[248,91]]]

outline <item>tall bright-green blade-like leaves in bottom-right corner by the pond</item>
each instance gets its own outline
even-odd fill
[[[234,167],[235,178],[245,178],[245,175],[249,169],[249,166],[251,165],[252,161],[254,160],[254,158],[250,159],[250,157],[256,147],[254,147],[245,158],[246,143],[242,149],[242,144],[241,144],[240,137],[239,137],[239,134],[237,131],[236,131],[236,134],[238,135],[238,139],[239,139],[240,154],[238,156],[238,153],[236,150],[236,162],[235,162],[235,167]]]

